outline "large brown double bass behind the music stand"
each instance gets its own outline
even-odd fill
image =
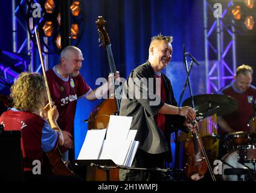
[[[107,51],[107,60],[109,63],[110,73],[115,74],[117,69],[115,68],[114,57],[112,54],[111,44],[109,35],[107,34],[106,28],[102,16],[98,16],[96,21],[98,34],[100,36],[101,45],[106,48]],[[88,121],[88,129],[100,129],[107,128],[109,123],[110,115],[118,115],[121,105],[121,93],[120,87],[117,84],[114,84],[114,98],[108,98],[102,103],[98,104],[91,112]],[[119,181],[119,169],[109,169],[109,179],[110,181]],[[97,169],[88,167],[88,172],[86,175],[86,180],[95,180],[95,181],[105,181],[106,172]]]

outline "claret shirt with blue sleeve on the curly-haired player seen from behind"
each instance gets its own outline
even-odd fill
[[[43,151],[48,152],[59,144],[59,134],[41,116],[16,109],[2,113],[0,124],[4,130],[21,131],[21,149],[24,157],[24,170],[33,168],[33,161],[43,165]]]

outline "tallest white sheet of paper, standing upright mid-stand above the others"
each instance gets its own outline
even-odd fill
[[[132,116],[110,115],[106,140],[124,141],[132,124]]]

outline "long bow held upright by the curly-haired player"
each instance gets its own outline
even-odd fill
[[[34,34],[36,35],[36,42],[37,42],[37,48],[40,56],[40,61],[42,65],[42,71],[43,71],[43,77],[45,78],[45,86],[46,86],[46,91],[47,91],[47,96],[48,96],[48,101],[50,104],[50,107],[53,107],[53,100],[51,99],[51,93],[49,90],[46,74],[45,74],[45,63],[43,62],[43,55],[42,55],[42,49],[40,45],[40,39],[39,39],[39,32],[37,31],[36,27],[34,27]]]

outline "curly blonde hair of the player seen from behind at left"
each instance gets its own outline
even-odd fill
[[[22,72],[11,86],[13,106],[18,110],[36,112],[45,105],[45,80],[42,75],[35,72]]]

